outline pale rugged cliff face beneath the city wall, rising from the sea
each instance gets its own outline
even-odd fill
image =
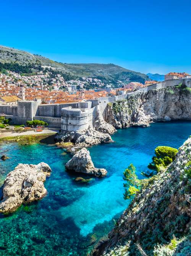
[[[122,128],[178,119],[191,119],[191,91],[188,88],[151,90],[109,103],[105,121],[115,128]]]

